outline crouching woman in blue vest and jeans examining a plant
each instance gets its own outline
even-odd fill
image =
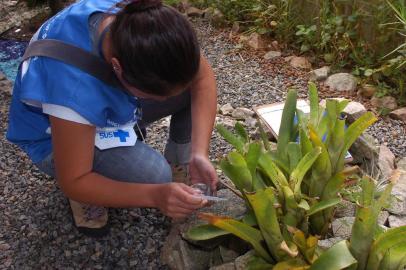
[[[25,60],[15,81],[7,138],[57,179],[76,226],[105,234],[107,207],[154,207],[172,218],[202,207],[194,189],[172,181],[176,171],[217,183],[208,159],[215,79],[184,16],[158,0],[83,0],[49,19],[31,44],[42,39],[93,54],[118,82],[46,56]],[[144,141],[145,128],[168,115],[161,155]]]

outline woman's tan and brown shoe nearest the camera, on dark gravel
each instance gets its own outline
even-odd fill
[[[101,237],[109,232],[107,208],[69,200],[73,222],[79,232]]]

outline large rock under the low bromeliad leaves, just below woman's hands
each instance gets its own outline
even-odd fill
[[[199,211],[222,216],[231,216],[233,218],[241,218],[247,211],[244,201],[230,190],[219,190],[217,195],[222,198],[227,198],[227,201],[215,203]],[[196,216],[192,216],[184,222],[173,223],[161,251],[161,260],[167,264],[169,268],[176,270],[203,270],[210,268],[212,265],[222,263],[220,249],[218,248],[218,245],[222,242],[221,239],[213,242],[205,241],[205,244],[201,244],[202,248],[199,248],[195,242],[190,244],[184,240],[183,237],[185,237],[185,233],[192,226],[202,223],[205,222],[198,220]]]

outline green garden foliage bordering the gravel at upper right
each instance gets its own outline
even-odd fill
[[[219,9],[247,33],[258,32],[352,69],[406,104],[406,2],[404,0],[192,0]]]

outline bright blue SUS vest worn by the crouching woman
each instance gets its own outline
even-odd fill
[[[115,12],[119,0],[82,0],[45,22],[38,39],[57,39],[92,50],[89,16]],[[7,139],[39,162],[52,152],[50,122],[41,108],[23,100],[68,107],[99,128],[119,127],[137,121],[135,97],[104,84],[91,75],[60,61],[34,57],[21,79],[21,65],[14,84]]]

